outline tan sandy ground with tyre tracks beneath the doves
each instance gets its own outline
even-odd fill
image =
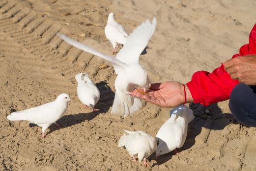
[[[111,64],[60,40],[57,32],[111,55],[104,35],[107,16],[130,34],[146,19],[156,31],[140,63],[151,82],[190,81],[194,72],[212,71],[248,43],[255,24],[255,0],[1,0],[0,1],[0,170],[147,170],[117,142],[122,129],[155,136],[171,108],[144,102],[133,116],[111,115],[115,73]],[[87,72],[101,92],[92,112],[76,94],[75,75]],[[54,93],[56,92],[56,93]],[[46,138],[28,122],[6,115],[69,93],[65,115]],[[233,118],[228,101],[191,105],[195,119],[177,155],[148,160],[152,171],[255,171],[256,128]]]

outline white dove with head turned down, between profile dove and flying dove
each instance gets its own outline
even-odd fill
[[[77,80],[77,95],[79,100],[85,105],[85,107],[91,107],[95,111],[94,106],[100,99],[100,91],[96,85],[89,79],[85,73],[79,73],[76,75]]]

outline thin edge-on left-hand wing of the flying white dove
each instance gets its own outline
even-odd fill
[[[101,58],[103,58],[103,59],[109,61],[109,62],[114,66],[115,70],[116,70],[116,69],[118,70],[118,68],[123,67],[123,66],[126,65],[126,64],[122,63],[121,61],[119,61],[119,60],[113,58],[113,57],[104,55],[104,54],[100,53],[99,51],[97,51],[97,50],[95,50],[95,49],[93,49],[93,48],[91,48],[91,47],[86,46],[85,44],[79,43],[79,42],[77,42],[77,41],[75,41],[75,40],[73,40],[73,39],[68,38],[68,37],[65,36],[65,35],[62,35],[62,34],[60,34],[60,33],[57,33],[57,35],[58,35],[61,39],[63,39],[64,41],[66,41],[67,43],[69,43],[69,44],[71,44],[71,45],[73,45],[73,46],[75,46],[75,47],[77,47],[77,48],[79,48],[79,49],[81,49],[81,50],[83,50],[83,51],[85,51],[85,52],[91,53],[91,54],[93,54],[93,55],[99,56],[99,57],[101,57]]]

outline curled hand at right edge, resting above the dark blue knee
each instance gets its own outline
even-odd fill
[[[238,56],[226,61],[224,67],[233,80],[256,85],[256,55]]]

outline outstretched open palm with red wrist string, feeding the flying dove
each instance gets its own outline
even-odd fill
[[[186,90],[186,102],[193,102],[191,93],[185,85]],[[181,83],[178,82],[164,82],[164,83],[155,83],[149,87],[149,90],[146,93],[141,93],[137,89],[133,92],[128,92],[134,97],[144,99],[148,102],[151,102],[155,105],[162,107],[176,107],[184,103],[184,87]]]

